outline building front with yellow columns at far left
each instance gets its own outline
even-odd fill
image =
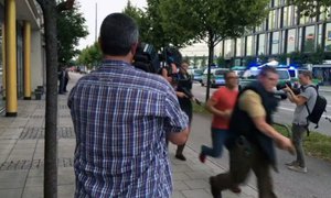
[[[44,85],[42,12],[34,0],[0,0],[0,111],[15,117],[18,100]]]

